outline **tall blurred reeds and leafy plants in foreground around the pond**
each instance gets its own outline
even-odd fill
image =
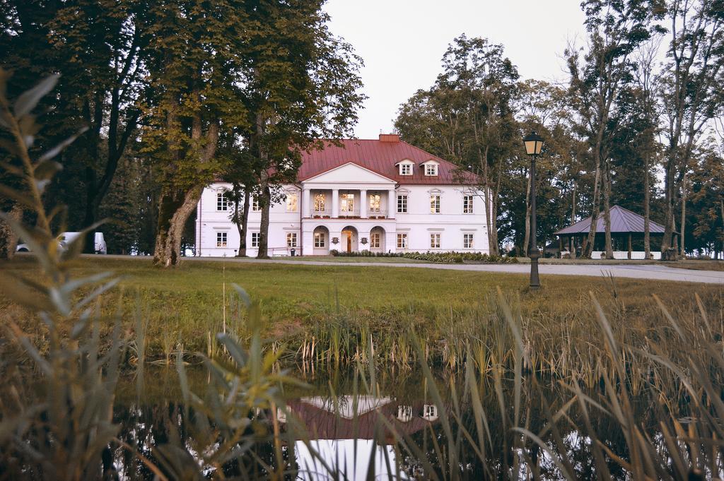
[[[557,323],[526,312],[521,299],[499,290],[488,299],[494,309],[474,311],[469,322],[441,319],[444,339],[420,336],[413,324],[375,330],[337,307],[298,346],[283,346],[264,340],[261,306],[232,286],[230,310],[205,352],[191,357],[172,331],[164,338],[164,363],[176,367],[180,399],[150,423],[128,414],[135,425],[122,431],[114,420],[115,393],[124,369],[135,366],[143,380],[148,320],[139,302],[131,334],[121,327],[122,310],[107,315],[101,308],[103,297],[121,296],[111,273],[71,275],[83,236],[69,250],[57,249],[62,209],[46,213],[42,192],[60,168],[52,161],[59,149],[35,161],[28,153],[38,131],[30,111],[53,85],[53,77],[43,80],[13,106],[0,88],[2,119],[20,159],[4,167],[25,186],[4,192],[33,210],[37,222],[2,218],[31,245],[43,273],[42,282],[19,276],[3,289],[35,312],[45,336],[31,338],[20,323],[4,331],[4,341],[30,359],[35,383],[28,383],[20,357],[0,362],[1,480],[348,479],[349,467],[321,454],[315,426],[303,425],[285,403],[285,386],[305,388],[285,370],[285,356],[310,370],[355,366],[355,412],[360,396],[384,396],[380,369],[421,373],[442,415],[408,433],[376,411],[376,441],[392,448],[373,450],[358,464],[366,479],[379,465],[375,456],[383,457],[390,479],[721,477],[724,320],[720,299],[698,296],[695,309],[678,312],[655,298],[656,315],[643,316],[618,295],[605,310],[591,294],[580,299],[589,318]],[[455,315],[450,310],[449,318]],[[110,332],[105,343],[103,328]],[[190,359],[206,369],[203,392],[190,386]],[[442,382],[439,373],[445,373]],[[462,382],[451,373],[463,375]],[[329,399],[339,416],[342,394],[349,393],[336,387],[330,383]],[[360,422],[356,414],[353,422]],[[299,464],[298,448],[311,453],[311,464]]]

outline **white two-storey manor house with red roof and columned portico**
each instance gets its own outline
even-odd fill
[[[296,184],[271,205],[269,255],[340,252],[489,252],[482,192],[476,176],[382,134],[342,140],[303,153]],[[229,257],[239,248],[232,204],[216,182],[197,207],[196,253]],[[252,202],[247,255],[256,255],[261,212]]]

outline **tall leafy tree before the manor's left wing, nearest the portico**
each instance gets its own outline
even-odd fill
[[[361,59],[329,32],[321,0],[258,1],[249,12],[244,95],[256,158],[261,226],[258,257],[268,256],[269,208],[282,182],[295,182],[303,150],[351,135]]]

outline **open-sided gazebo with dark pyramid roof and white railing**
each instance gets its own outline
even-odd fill
[[[610,209],[611,213],[611,239],[614,243],[613,257],[615,259],[643,259],[644,258],[644,217],[639,216],[631,210],[625,209],[620,205],[614,205]],[[602,257],[602,251],[605,250],[605,221],[603,212],[599,213],[596,221],[596,239],[595,248],[592,252],[592,258],[599,259]],[[553,235],[558,236],[558,248],[563,252],[564,248],[568,248],[573,252],[573,247],[580,251],[588,244],[588,234],[591,228],[591,218],[584,218],[582,221],[576,222],[571,226],[554,232]],[[664,226],[656,222],[649,221],[649,234],[652,239],[663,239]],[[678,233],[674,232],[673,236]],[[634,244],[641,250],[633,250]],[[652,250],[654,258],[659,258],[660,252]]]

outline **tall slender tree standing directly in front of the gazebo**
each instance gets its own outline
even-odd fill
[[[595,219],[598,218],[603,197],[605,251],[607,257],[613,257],[610,151],[618,129],[615,102],[620,90],[631,82],[631,54],[650,38],[652,20],[660,16],[660,9],[654,1],[646,0],[586,0],[581,7],[586,14],[588,48],[578,51],[569,47],[565,56],[571,73],[571,95],[580,117],[581,132],[589,139],[595,171],[594,221],[584,255],[590,257],[595,248]]]

